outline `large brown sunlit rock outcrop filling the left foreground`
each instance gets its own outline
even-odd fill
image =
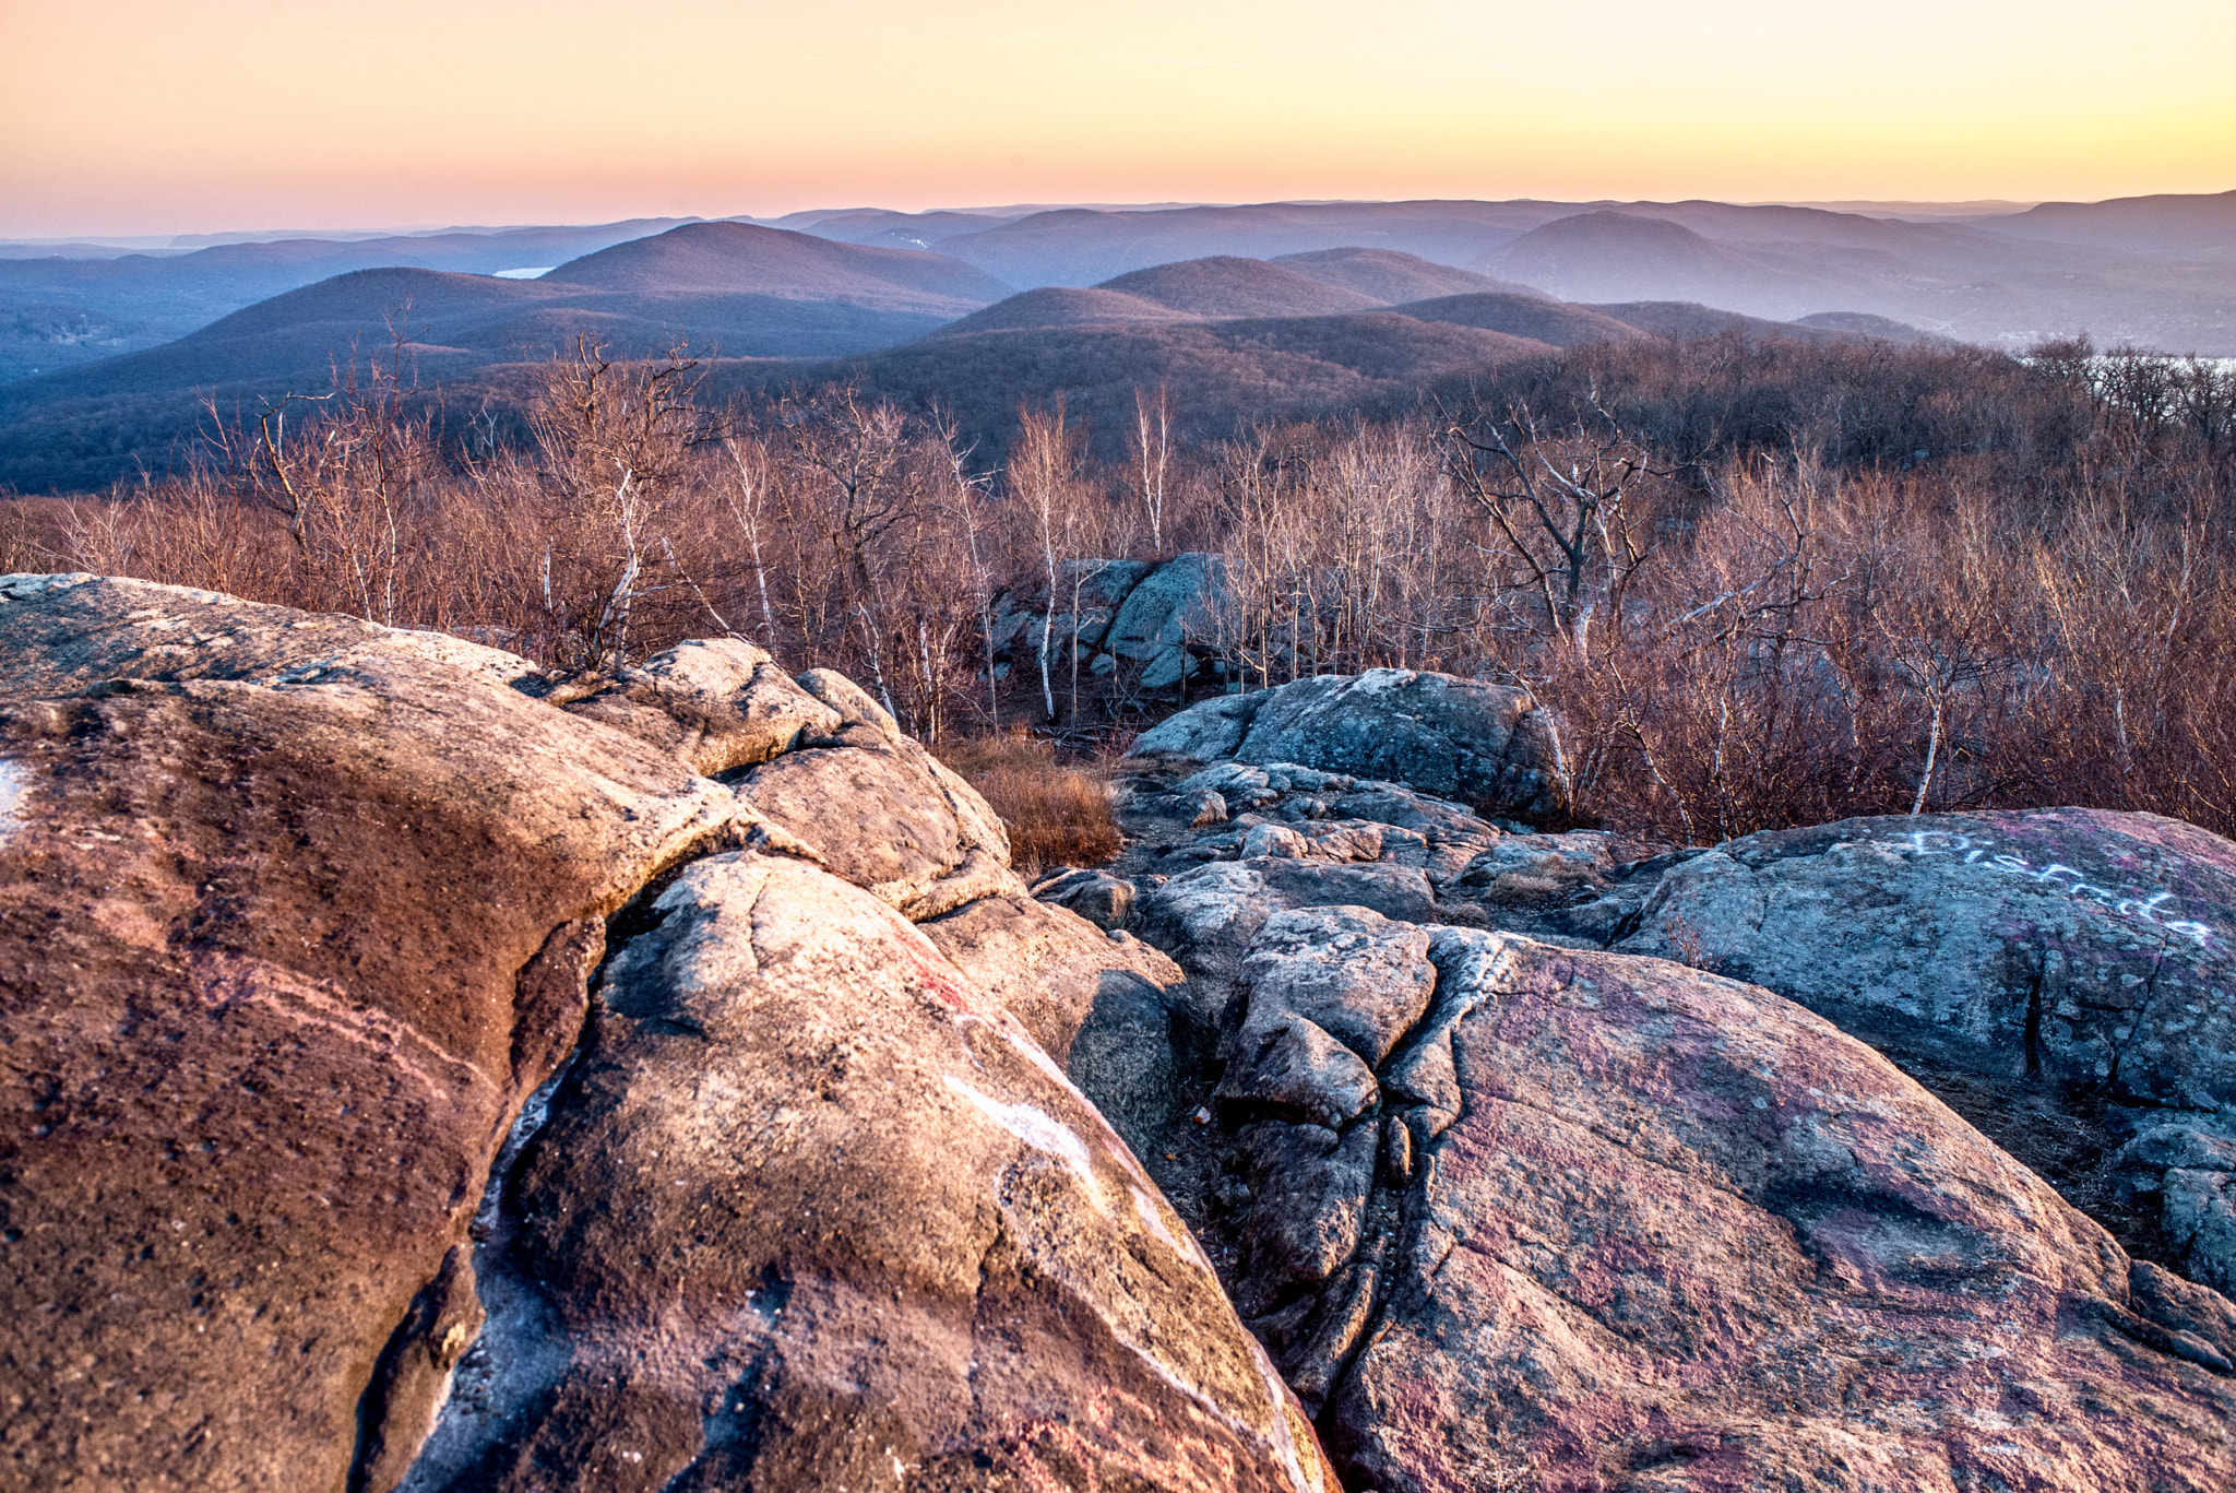
[[[1321,1486],[1111,978],[836,676],[0,580],[0,1482]]]

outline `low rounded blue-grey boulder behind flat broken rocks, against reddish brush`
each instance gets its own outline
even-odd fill
[[[1143,732],[1134,752],[1299,763],[1534,821],[1567,801],[1558,732],[1527,692],[1415,669],[1326,674],[1216,696]]]

